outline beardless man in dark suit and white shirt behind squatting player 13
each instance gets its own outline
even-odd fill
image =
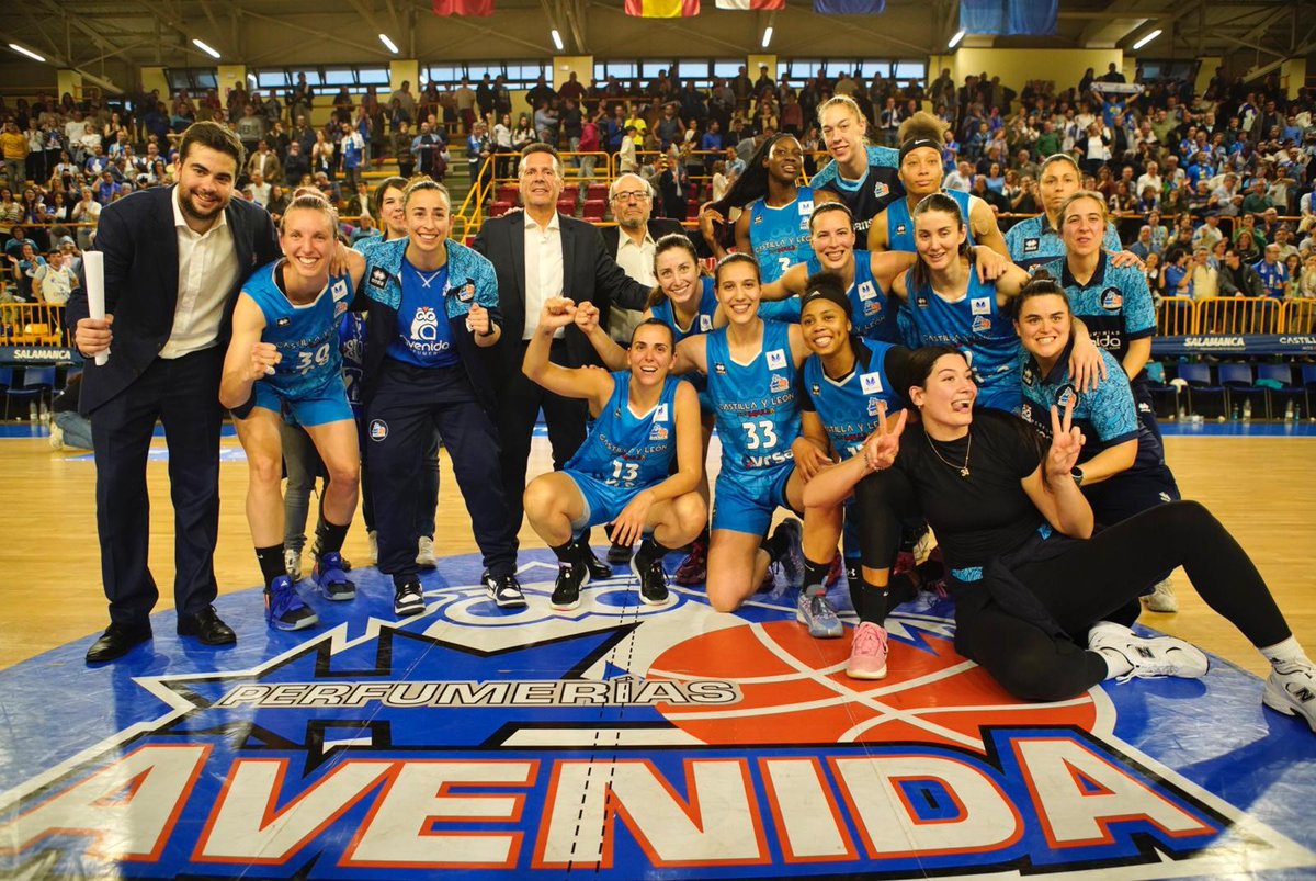
[[[562,161],[555,149],[547,144],[526,146],[517,174],[525,211],[486,221],[475,250],[488,257],[497,271],[503,337],[491,349],[491,371],[499,388],[503,487],[512,521],[520,528],[530,436],[540,408],[549,425],[554,469],[571,458],[586,436],[586,402],[545,391],[521,373],[544,302],[553,296],[592,302],[603,323],[613,303],[642,309],[649,287],[626,277],[592,224],[558,213]],[[575,325],[553,340],[549,358],[567,367],[600,363]]]

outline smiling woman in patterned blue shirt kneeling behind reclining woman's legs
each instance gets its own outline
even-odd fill
[[[1079,298],[1082,294],[1078,291]],[[1062,288],[1045,269],[1037,270],[1033,280],[1024,286],[1015,316],[1015,331],[1024,346],[1020,353],[1024,391],[1020,415],[1046,435],[1050,407],[1074,400],[1074,424],[1087,437],[1074,479],[1083,487],[1096,521],[1109,525],[1178,500],[1179,486],[1165,462],[1161,437],[1140,419],[1128,377],[1109,350],[1101,352],[1107,377],[1095,388],[1079,391],[1071,381],[1066,365],[1079,298]],[[1177,611],[1169,578],[1155,583],[1146,602],[1152,611]]]

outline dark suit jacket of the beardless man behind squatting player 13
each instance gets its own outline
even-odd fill
[[[565,215],[562,224],[562,295],[576,303],[599,307],[599,323],[608,324],[613,303],[628,309],[644,309],[649,288],[632,279],[617,265],[594,224]],[[503,337],[495,352],[500,382],[521,370],[521,334],[525,331],[525,212],[517,211],[484,221],[475,237],[475,250],[494,263],[497,273],[499,307],[503,311]],[[590,340],[575,325],[565,333],[567,366],[600,363]]]

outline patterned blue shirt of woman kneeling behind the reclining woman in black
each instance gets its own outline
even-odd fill
[[[1069,358],[1073,342],[1057,360],[1049,374],[1028,352],[1020,352],[1020,383],[1024,392],[1019,415],[1033,425],[1044,437],[1051,433],[1051,404],[1062,414],[1066,402],[1074,399],[1073,423],[1083,431],[1084,444],[1079,450],[1079,464],[1088,461],[1101,450],[1119,446],[1137,439],[1138,452],[1128,473],[1159,469],[1165,465],[1165,452],[1161,442],[1141,419],[1133,402],[1133,390],[1109,352],[1101,353],[1105,362],[1105,379],[1096,388],[1080,392],[1069,373]]]

